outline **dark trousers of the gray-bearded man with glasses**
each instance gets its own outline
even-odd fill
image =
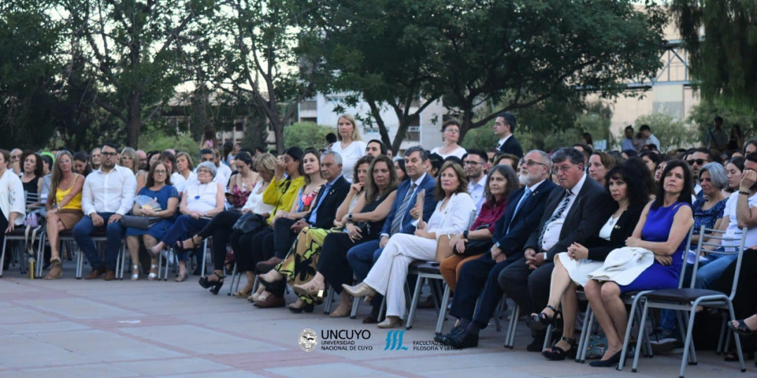
[[[478,259],[466,262],[457,277],[450,314],[455,318],[475,321],[481,329],[486,328],[497,303],[502,299],[502,288],[498,281],[500,271],[508,265],[523,261],[508,259],[497,263],[491,258],[491,253],[484,253]],[[476,300],[479,297],[481,300],[477,306]]]

